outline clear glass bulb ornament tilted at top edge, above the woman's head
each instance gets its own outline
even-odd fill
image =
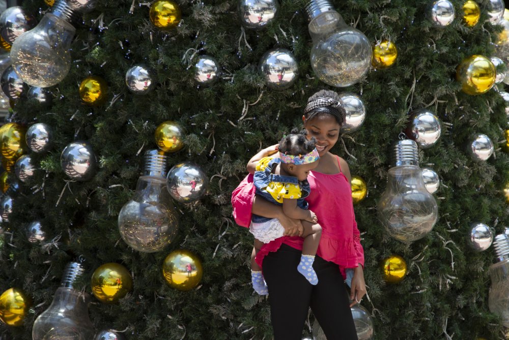
[[[358,83],[371,66],[372,47],[367,37],[345,23],[329,0],[312,0],[306,6],[313,39],[311,66],[328,85]]]

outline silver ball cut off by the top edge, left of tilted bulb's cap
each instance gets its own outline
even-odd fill
[[[277,0],[240,0],[239,15],[242,25],[248,29],[261,30],[274,20],[279,4]]]

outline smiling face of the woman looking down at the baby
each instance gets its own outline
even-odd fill
[[[307,138],[315,137],[317,140],[316,148],[320,157],[325,155],[336,144],[340,136],[341,125],[336,119],[328,114],[320,114],[313,119],[305,121],[304,128],[307,130]]]

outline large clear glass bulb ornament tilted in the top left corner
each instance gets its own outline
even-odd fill
[[[60,83],[71,67],[69,48],[76,30],[71,25],[76,12],[89,11],[96,0],[57,0],[33,30],[12,44],[11,60],[27,84],[50,87]]]

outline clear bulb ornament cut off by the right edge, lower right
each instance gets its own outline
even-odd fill
[[[509,236],[505,233],[497,235],[493,247],[498,262],[489,268],[491,287],[488,307],[500,316],[502,325],[509,328]]]

